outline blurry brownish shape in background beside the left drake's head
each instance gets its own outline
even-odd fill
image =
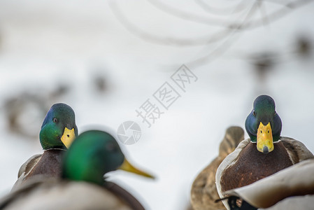
[[[41,123],[51,104],[68,91],[68,86],[59,85],[45,94],[26,90],[6,99],[3,111],[6,114],[8,130],[23,136],[24,139],[38,139]]]

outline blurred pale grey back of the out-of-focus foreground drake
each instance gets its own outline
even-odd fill
[[[60,181],[34,176],[19,189],[3,197],[0,200],[0,209],[137,210],[144,208],[132,195],[114,183],[102,187],[83,181]]]

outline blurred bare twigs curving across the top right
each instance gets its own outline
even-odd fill
[[[199,6],[204,5],[204,0],[194,0]],[[120,10],[116,1],[110,1],[110,7],[113,10],[113,13],[117,20],[119,20],[122,25],[130,31],[132,34],[135,34],[139,38],[142,38],[145,41],[149,41],[151,43],[157,43],[161,45],[175,45],[177,47],[186,47],[191,45],[204,45],[205,48],[208,48],[209,44],[216,44],[216,47],[213,49],[213,46],[210,45],[210,52],[207,52],[206,55],[200,56],[197,59],[194,59],[190,62],[186,62],[189,66],[200,65],[211,60],[217,58],[222,55],[226,50],[228,50],[231,45],[241,36],[241,32],[246,29],[253,29],[256,27],[260,27],[263,25],[270,25],[271,22],[274,22],[280,18],[285,17],[289,13],[292,13],[295,9],[306,5],[307,3],[311,3],[314,0],[296,0],[290,2],[282,2],[282,1],[273,1],[273,0],[255,0],[250,1],[252,4],[242,4],[243,2],[247,2],[245,0],[234,6],[235,10],[241,10],[240,15],[245,15],[244,20],[239,20],[240,18],[236,18],[236,20],[223,20],[221,18],[209,18],[202,15],[195,15],[193,13],[189,13],[179,8],[175,8],[173,6],[169,6],[162,1],[157,0],[148,0],[156,8],[168,13],[169,15],[176,16],[177,18],[197,22],[201,24],[210,25],[211,27],[220,27],[218,31],[214,33],[207,34],[201,37],[194,38],[179,38],[179,37],[163,37],[157,36],[155,34],[150,34],[147,31],[141,29],[141,27],[137,27],[128,20],[124,16],[124,13]],[[266,3],[276,3],[280,6],[279,9],[274,10],[272,12],[266,13]],[[248,6],[246,6],[248,5]],[[210,7],[208,7],[210,8]],[[261,17],[255,20],[252,17],[255,15],[257,8],[261,13]],[[214,9],[215,10],[215,9]],[[247,12],[248,10],[248,12]],[[209,10],[208,10],[209,11]],[[216,10],[217,11],[217,10]],[[210,12],[210,11],[209,11]],[[213,12],[215,13],[215,12]],[[234,19],[234,17],[232,17]],[[221,43],[219,43],[221,42]],[[206,50],[207,51],[207,50]]]

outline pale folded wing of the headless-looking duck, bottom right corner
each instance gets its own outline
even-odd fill
[[[314,195],[313,172],[314,160],[306,160],[287,169],[283,169],[266,179],[252,183],[250,186],[229,190],[225,194],[241,197],[245,202],[257,208],[268,208],[286,197],[290,197],[289,199],[291,199],[291,196]],[[304,198],[308,200],[308,197]],[[313,209],[313,196],[311,198]],[[303,198],[299,197],[297,200],[301,199]],[[274,209],[279,209],[279,207],[282,207],[281,209],[292,209],[291,206],[290,208],[283,208],[283,205],[288,207],[287,203],[292,204],[291,202],[287,202],[287,200],[283,204],[278,204],[278,207],[274,207]],[[299,207],[294,209],[304,209],[302,203],[297,202],[296,204]]]

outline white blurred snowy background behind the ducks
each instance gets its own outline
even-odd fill
[[[239,3],[241,10],[231,13]],[[79,132],[117,130],[126,120],[141,126],[141,139],[123,150],[157,179],[108,176],[147,209],[188,207],[195,176],[217,156],[227,127],[244,128],[259,94],[275,99],[282,135],[314,152],[314,56],[311,49],[298,53],[300,38],[313,45],[314,3],[256,3],[0,1],[0,195],[10,191],[22,163],[42,153],[38,133],[56,102],[74,109]],[[278,10],[279,18],[271,16]],[[262,17],[251,29],[227,29]],[[206,44],[216,36],[220,41]],[[266,65],[263,80],[255,65],[261,55],[271,59],[260,64]],[[198,78],[186,92],[170,78],[182,64]],[[168,111],[152,97],[166,81],[181,95]],[[57,94],[60,87],[64,92]],[[147,99],[164,111],[150,128],[135,111]],[[9,111],[19,113],[13,127]]]

